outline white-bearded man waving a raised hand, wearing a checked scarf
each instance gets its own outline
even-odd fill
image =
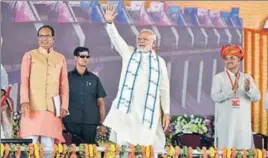
[[[112,5],[107,6],[105,18],[107,32],[123,61],[118,93],[103,124],[112,128],[110,139],[118,144],[153,145],[162,149],[164,131],[169,125],[170,90],[166,63],[153,51],[156,35],[151,30],[142,30],[137,48],[133,48],[122,39],[113,23]]]

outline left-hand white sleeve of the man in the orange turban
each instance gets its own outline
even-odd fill
[[[214,102],[218,103],[230,99],[234,94],[232,89],[229,89],[227,91],[223,90],[221,80],[222,78],[220,75],[214,76],[211,87],[211,98]]]

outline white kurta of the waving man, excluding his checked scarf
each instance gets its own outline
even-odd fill
[[[124,74],[127,70],[128,60],[130,59],[131,54],[134,52],[134,48],[127,45],[127,43],[119,35],[114,24],[107,24],[107,32],[113,45],[115,46],[115,49],[123,59],[121,77],[118,87],[118,90],[120,90],[123,84]],[[163,132],[163,127],[161,126],[160,108],[162,108],[164,114],[170,113],[169,79],[166,63],[163,58],[159,57],[160,85],[154,113],[155,124],[153,125],[152,129],[149,129],[148,126],[145,126],[142,123],[145,108],[145,97],[148,87],[148,55],[149,53],[142,54],[143,57],[138,76],[136,78],[136,85],[133,92],[133,100],[130,105],[130,112],[121,112],[116,108],[118,99],[120,97],[120,93],[118,92],[104,121],[104,125],[112,128],[114,133],[112,132],[112,137],[110,139],[118,144],[130,143],[134,145],[153,145],[154,148],[163,148],[165,145],[165,135]],[[161,107],[160,104],[162,105]]]

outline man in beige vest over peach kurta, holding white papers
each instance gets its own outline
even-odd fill
[[[48,25],[38,31],[39,48],[24,54],[21,64],[20,136],[40,137],[45,147],[54,141],[64,142],[61,118],[55,115],[53,97],[60,95],[61,117],[66,116],[69,102],[68,73],[65,57],[55,51],[54,29]]]

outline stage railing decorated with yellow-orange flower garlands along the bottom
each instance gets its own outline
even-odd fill
[[[202,149],[192,149],[191,147],[182,147],[179,146],[166,146],[163,149],[153,149],[152,146],[119,146],[115,144],[105,144],[103,147],[97,147],[96,145],[91,144],[80,144],[79,146],[75,146],[74,144],[67,146],[64,144],[55,144],[51,148],[44,148],[39,144],[29,144],[29,145],[16,145],[16,144],[1,144],[1,157],[7,157],[11,154],[20,156],[19,154],[24,154],[27,156],[38,156],[43,157],[44,155],[50,154],[51,157],[55,156],[72,156],[72,155],[80,155],[87,156],[91,155],[91,157],[98,156],[102,152],[103,155],[117,157],[119,155],[129,155],[138,156],[140,155],[142,158],[153,158],[153,157],[193,157],[193,156],[203,156],[203,157],[218,157],[221,156],[223,158],[227,157],[256,157],[256,158],[264,158],[267,157],[268,153],[265,149],[242,149],[236,150],[234,148],[224,148],[223,150],[217,150],[213,147],[206,149],[203,147]],[[134,158],[133,157],[133,158]]]

